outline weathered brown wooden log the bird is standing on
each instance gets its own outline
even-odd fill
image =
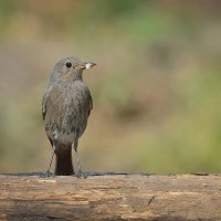
[[[2,175],[0,183],[0,220],[221,220],[219,175]]]

